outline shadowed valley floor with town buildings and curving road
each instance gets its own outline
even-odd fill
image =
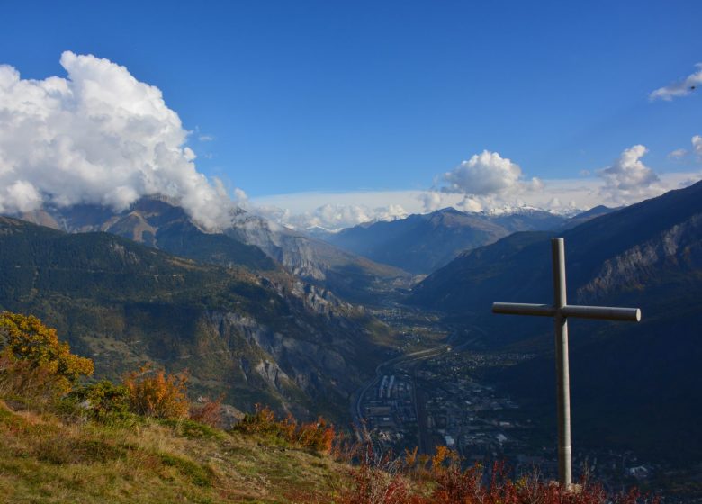
[[[353,394],[350,410],[354,424],[367,430],[383,452],[402,454],[417,447],[419,455],[431,455],[437,446],[448,446],[466,465],[505,462],[516,478],[536,471],[557,479],[554,422],[546,421],[551,430],[545,428],[533,409],[525,409],[495,379],[536,358],[535,353],[476,348],[477,337],[456,338],[458,333],[432,312],[396,305],[376,314],[404,336],[405,351],[376,367],[374,378]],[[479,332],[473,328],[473,334]],[[555,378],[543,387],[554,395]],[[555,416],[555,407],[545,413]],[[573,467],[576,478],[588,473],[613,490],[636,485],[667,494],[666,502],[689,501],[689,496],[671,494],[689,478],[687,471],[632,449],[596,448],[576,440]]]

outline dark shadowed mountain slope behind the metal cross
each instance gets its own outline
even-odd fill
[[[643,311],[639,324],[572,320],[574,438],[636,446],[683,464],[702,458],[701,226],[698,183],[559,233],[570,302]],[[554,382],[553,328],[541,318],[493,315],[491,303],[552,302],[551,236],[516,233],[466,252],[419,284],[410,300],[485,330],[486,346],[540,349],[541,356],[495,379],[548,428],[554,389],[544,383]]]

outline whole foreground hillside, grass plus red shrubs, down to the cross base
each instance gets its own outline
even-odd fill
[[[653,504],[596,482],[576,491],[499,467],[462,469],[446,448],[422,461],[369,452],[369,464],[191,420],[68,423],[0,401],[0,492],[14,504]],[[363,460],[363,457],[361,458]],[[490,483],[486,483],[490,481]]]

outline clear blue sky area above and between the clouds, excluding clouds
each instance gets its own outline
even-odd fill
[[[159,88],[197,169],[249,197],[423,191],[483,150],[573,179],[647,148],[695,172],[702,3],[4,2],[0,63],[66,76],[65,50]],[[702,90],[700,90],[702,92]],[[202,138],[202,140],[201,140]]]

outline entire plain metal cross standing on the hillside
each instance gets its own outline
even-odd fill
[[[568,373],[568,317],[601,320],[641,320],[638,308],[608,308],[605,306],[576,306],[565,299],[565,253],[563,238],[551,238],[554,266],[554,304],[495,302],[493,313],[538,315],[554,317],[556,375],[558,379],[558,481],[571,488],[571,386]]]

